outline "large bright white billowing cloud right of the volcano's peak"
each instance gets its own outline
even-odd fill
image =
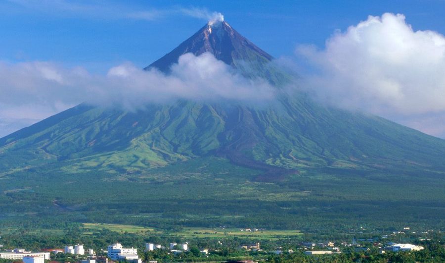
[[[324,101],[445,135],[445,127],[426,121],[445,116],[444,35],[415,31],[404,15],[385,13],[335,32],[323,50],[296,52],[314,66],[307,84]]]

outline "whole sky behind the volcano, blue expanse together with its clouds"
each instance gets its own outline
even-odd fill
[[[317,99],[445,138],[443,10],[445,0],[2,0],[0,137],[95,96],[91,89],[106,93],[110,72],[141,77],[135,69],[221,12],[292,61]]]

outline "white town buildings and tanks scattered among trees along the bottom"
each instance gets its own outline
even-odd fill
[[[250,229],[246,229],[247,231],[252,231]],[[246,231],[243,230],[243,231]],[[361,240],[372,242],[373,240]],[[379,253],[384,254],[387,251],[399,252],[399,251],[420,251],[424,248],[422,246],[417,246],[413,244],[402,244],[402,243],[392,243],[388,242],[383,245],[381,243],[371,243],[372,246],[377,246],[379,248]],[[367,246],[361,246],[356,243],[356,240],[353,240],[351,243],[341,242],[336,244],[335,242],[328,241],[322,243],[313,243],[313,242],[302,242],[301,248],[304,250],[304,254],[306,255],[328,255],[328,254],[341,254],[342,248],[353,247],[354,251],[368,251],[369,248]],[[1,248],[1,245],[0,245]],[[293,250],[283,250],[282,247],[276,247],[272,251],[263,251],[260,242],[242,244],[238,249],[251,251],[251,252],[265,252],[271,254],[283,254],[283,253],[294,253]],[[172,253],[174,255],[178,255],[181,253],[185,253],[189,251],[189,243],[170,243],[170,245],[163,246],[160,244],[154,243],[146,243],[145,251],[155,251],[155,250],[165,250],[168,253]],[[202,248],[200,250],[203,256],[207,256],[212,251],[209,251],[206,248]],[[0,252],[0,259],[10,260],[14,262],[23,262],[23,263],[45,263],[53,260],[55,255],[59,253],[71,254],[78,259],[79,263],[115,263],[115,262],[128,262],[128,263],[142,263],[142,259],[138,256],[137,248],[125,248],[120,243],[111,244],[108,246],[106,250],[101,251],[99,253],[101,256],[96,255],[95,251],[88,248],[87,250],[84,248],[84,245],[66,245],[63,249],[45,249],[39,252],[26,251],[24,249],[16,248],[10,251],[2,251]],[[106,255],[106,256],[105,256]],[[240,263],[254,263],[255,261],[245,260],[245,261],[232,261],[232,262],[240,262]],[[146,261],[146,263],[157,263],[157,261]]]

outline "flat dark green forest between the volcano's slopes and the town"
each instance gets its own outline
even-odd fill
[[[49,165],[0,177],[0,224],[64,229],[66,223],[91,222],[303,232],[445,225],[445,182],[433,172],[393,176],[381,170],[320,168],[273,183],[256,182],[258,173],[222,158],[140,174],[60,173]]]

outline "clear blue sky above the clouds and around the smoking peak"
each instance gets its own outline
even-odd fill
[[[222,12],[238,32],[275,57],[298,44],[323,47],[334,30],[384,12],[403,13],[417,30],[445,33],[443,0],[22,1],[0,2],[0,59],[56,61],[106,72],[122,61],[144,67],[206,21],[177,12]],[[145,17],[130,13],[146,12]]]

